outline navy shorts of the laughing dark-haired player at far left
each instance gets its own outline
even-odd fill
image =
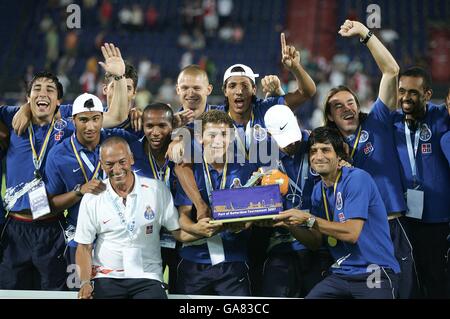
[[[8,217],[0,244],[0,289],[66,290],[63,221]]]

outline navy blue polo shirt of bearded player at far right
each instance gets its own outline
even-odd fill
[[[450,168],[441,147],[441,139],[450,127],[445,106],[427,104],[425,118],[420,122],[420,137],[416,155],[417,180],[414,185],[408,150],[406,146],[404,116],[393,113],[394,137],[400,157],[404,183],[408,189],[418,187],[424,192],[422,221],[443,223],[450,221],[449,189]],[[411,132],[414,147],[415,132]]]

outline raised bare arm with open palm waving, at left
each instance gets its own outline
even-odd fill
[[[106,73],[113,77],[113,96],[104,114],[103,127],[113,128],[128,118],[127,81],[125,79],[125,62],[118,47],[112,43],[102,46],[105,62],[99,62]],[[117,77],[117,79],[115,79]]]

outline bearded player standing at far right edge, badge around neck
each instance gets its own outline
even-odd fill
[[[445,255],[449,234],[450,168],[441,148],[450,117],[429,103],[429,74],[418,67],[400,75],[394,137],[406,185],[408,235],[414,247],[421,296],[445,298]]]

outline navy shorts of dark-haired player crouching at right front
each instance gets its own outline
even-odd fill
[[[306,299],[395,299],[398,276],[390,269],[380,268],[379,283],[373,283],[368,277],[372,273],[361,275],[331,274],[318,283]]]

